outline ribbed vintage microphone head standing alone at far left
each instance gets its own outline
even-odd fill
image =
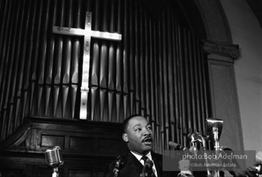
[[[53,149],[46,149],[46,163],[50,167],[60,167],[64,164],[64,159],[60,152],[60,147],[56,146]]]

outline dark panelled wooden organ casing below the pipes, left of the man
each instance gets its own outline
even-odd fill
[[[120,124],[54,118],[26,118],[23,127],[0,145],[2,176],[52,176],[46,149],[61,147],[60,176],[102,176],[127,151]]]

